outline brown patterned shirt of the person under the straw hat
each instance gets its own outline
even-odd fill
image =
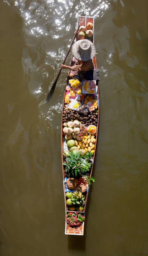
[[[72,71],[88,71],[90,69],[94,69],[94,63],[93,60],[90,59],[89,61],[79,61],[80,63],[74,64],[74,66],[71,67]]]

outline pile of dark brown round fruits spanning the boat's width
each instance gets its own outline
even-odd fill
[[[66,108],[64,106],[64,111],[63,111],[63,123],[69,122],[69,121],[74,121],[78,120],[83,124],[88,125],[96,125],[97,126],[97,119],[98,119],[98,113],[93,111],[89,112],[89,115],[83,115],[75,110],[71,110],[69,108]]]

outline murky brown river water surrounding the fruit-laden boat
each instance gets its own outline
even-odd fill
[[[64,235],[60,125],[77,15],[94,15],[100,130],[84,236]],[[0,1],[0,256],[148,255],[148,1]],[[69,64],[71,54],[66,63]]]

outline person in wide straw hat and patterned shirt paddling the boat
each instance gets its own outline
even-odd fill
[[[69,77],[84,75],[87,71],[94,69],[93,57],[96,49],[91,41],[78,40],[72,47],[72,53],[77,59],[76,63],[72,67],[61,64],[61,69],[70,69]]]

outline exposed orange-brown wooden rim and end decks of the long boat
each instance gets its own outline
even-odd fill
[[[78,22],[77,22],[77,26],[85,26],[87,25],[88,22],[91,22],[93,24],[93,30],[94,30],[94,18],[93,17],[78,17]],[[86,28],[87,30],[87,28]],[[94,31],[93,31],[94,32]],[[77,38],[78,40],[78,38]],[[94,35],[92,38],[90,38],[90,40],[94,43]],[[71,66],[74,65],[75,63],[75,58],[74,56],[72,56],[71,58]],[[93,58],[93,62],[94,62],[94,68],[97,69],[97,64],[96,64],[96,56],[94,56]],[[66,86],[68,85],[69,81],[67,79],[66,82]],[[65,86],[65,91],[64,91],[64,100],[63,100],[63,108],[62,108],[62,118],[61,118],[61,161],[62,161],[62,176],[63,176],[63,186],[64,186],[64,199],[65,199],[65,211],[68,214],[69,212],[75,213],[75,214],[79,214],[81,213],[83,216],[85,216],[85,211],[86,211],[86,205],[87,205],[87,199],[88,199],[88,194],[89,194],[89,185],[87,187],[87,192],[86,192],[86,197],[85,197],[85,202],[84,202],[84,209],[83,211],[79,212],[78,210],[69,210],[69,207],[66,204],[66,173],[65,173],[65,169],[64,169],[64,143],[65,143],[65,133],[63,132],[63,123],[64,123],[64,109],[65,109],[65,95],[66,95],[66,86]],[[92,157],[92,167],[89,171],[89,177],[92,177],[92,171],[93,171],[93,164],[94,164],[94,158],[95,158],[95,153],[96,153],[96,148],[97,148],[97,135],[98,135],[98,128],[99,128],[99,105],[100,105],[100,101],[99,101],[99,86],[97,83],[97,99],[98,99],[98,106],[97,109],[95,109],[94,111],[96,111],[96,120],[97,120],[97,130],[96,133],[94,134],[94,138],[96,140],[95,142],[95,148],[94,148],[94,154]],[[79,226],[79,227],[71,227],[70,225],[68,225],[65,221],[65,234],[66,235],[83,235],[84,234],[84,222]]]

